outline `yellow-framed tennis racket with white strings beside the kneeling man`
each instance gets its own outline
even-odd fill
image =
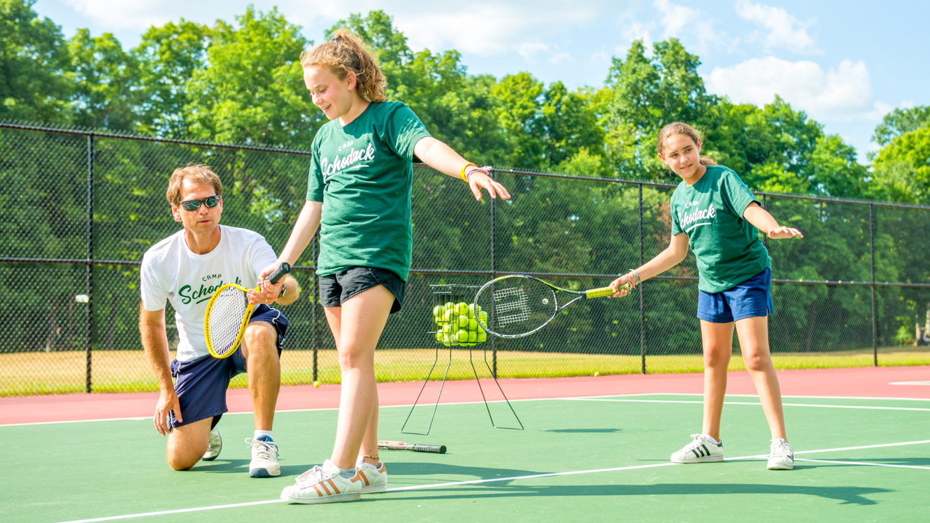
[[[268,275],[268,280],[277,283],[289,272],[290,264],[282,263]],[[255,289],[260,290],[260,287]],[[255,310],[255,303],[248,302],[247,292],[245,287],[228,283],[214,291],[210,297],[204,316],[204,334],[206,350],[210,351],[211,355],[219,358],[229,357],[242,342],[248,320]]]

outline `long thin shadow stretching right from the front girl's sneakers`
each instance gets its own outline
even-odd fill
[[[446,491],[447,494],[424,495],[427,492]],[[731,484],[731,483],[660,483],[658,485],[546,485],[532,487],[527,485],[512,485],[506,482],[481,484],[481,485],[461,485],[454,487],[443,487],[423,490],[417,495],[407,495],[407,492],[386,492],[404,494],[396,498],[395,501],[405,501],[413,499],[429,500],[474,500],[474,499],[492,499],[492,498],[510,498],[514,496],[542,496],[547,498],[565,498],[565,497],[589,497],[589,496],[684,496],[684,495],[722,495],[735,496],[739,494],[771,494],[775,496],[805,494],[808,496],[817,496],[820,498],[836,500],[843,504],[856,505],[874,505],[877,502],[865,497],[869,494],[891,492],[890,489],[876,489],[873,487],[812,487],[812,486],[790,486],[790,485],[768,485],[768,484]],[[372,497],[371,499],[375,499]],[[380,500],[380,496],[378,497]],[[383,500],[386,502],[388,500]],[[382,502],[382,503],[383,503]]]

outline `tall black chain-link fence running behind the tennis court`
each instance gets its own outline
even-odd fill
[[[222,222],[284,247],[306,195],[302,151],[0,123],[0,286],[8,299],[0,396],[157,390],[141,350],[142,254],[178,230],[165,200],[191,161],[224,184]],[[658,373],[702,369],[693,255],[622,300],[578,302],[519,339],[446,347],[430,334],[431,286],[538,275],[565,288],[603,287],[669,244],[672,184],[498,170],[512,199],[473,200],[460,181],[417,167],[413,269],[404,310],[377,357],[379,381],[449,377]],[[778,368],[930,364],[921,345],[930,303],[930,208],[760,194],[803,240],[767,241]],[[312,252],[311,252],[312,250]],[[302,297],[282,355],[286,384],[339,382],[308,248],[294,275]],[[168,305],[168,338],[177,343]],[[731,369],[740,369],[738,343]],[[487,366],[472,368],[473,360]],[[482,376],[484,377],[484,376]],[[245,376],[233,386],[245,386]]]

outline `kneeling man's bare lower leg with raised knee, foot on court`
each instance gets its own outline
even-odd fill
[[[242,351],[246,356],[248,391],[255,410],[256,430],[272,430],[274,422],[274,406],[281,390],[277,339],[277,330],[264,321],[249,324],[243,338]]]

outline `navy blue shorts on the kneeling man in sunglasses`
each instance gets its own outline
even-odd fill
[[[278,357],[281,356],[281,343],[285,340],[287,318],[280,311],[261,303],[255,307],[249,323],[264,321],[272,324],[278,332]],[[168,417],[170,427],[187,425],[206,418],[213,418],[210,428],[217,426],[219,418],[226,408],[226,387],[233,376],[246,371],[246,358],[242,347],[233,355],[222,359],[205,355],[193,361],[171,362],[171,376],[175,378],[175,393],[180,403],[180,414],[184,422],[178,422],[174,412]]]

